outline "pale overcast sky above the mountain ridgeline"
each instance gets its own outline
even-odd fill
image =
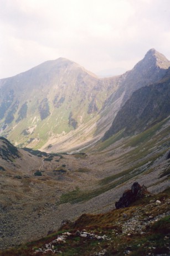
[[[150,48],[170,60],[170,0],[0,0],[0,78],[59,57],[114,75]]]

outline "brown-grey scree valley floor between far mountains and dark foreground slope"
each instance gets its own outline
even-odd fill
[[[71,155],[19,149],[13,158],[6,145],[7,159],[0,164],[0,248],[40,239],[58,230],[63,219],[106,213],[135,181],[151,193],[168,188],[168,128],[149,141],[140,136]]]

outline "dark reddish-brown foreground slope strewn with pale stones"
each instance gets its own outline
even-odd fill
[[[6,255],[164,255],[170,253],[170,190],[146,194],[127,208],[83,214],[60,230]],[[43,227],[42,227],[43,228]],[[50,233],[50,232],[49,232]]]

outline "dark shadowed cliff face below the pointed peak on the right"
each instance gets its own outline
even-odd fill
[[[115,117],[104,140],[118,131],[124,136],[138,134],[170,115],[170,68],[163,80],[133,92]]]

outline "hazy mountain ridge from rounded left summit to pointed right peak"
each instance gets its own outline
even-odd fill
[[[46,151],[69,151],[94,143],[110,127],[113,130],[112,122],[116,115],[115,120],[118,121],[115,121],[116,126],[114,122],[113,132],[125,128],[125,125],[120,125],[120,119],[130,115],[126,110],[127,101],[133,101],[131,107],[138,115],[139,105],[141,107],[142,102],[146,105],[146,102],[142,96],[138,96],[141,102],[135,101],[132,93],[145,87],[137,93],[152,94],[158,85],[154,85],[154,90],[151,84],[162,80],[169,66],[166,57],[151,49],[131,71],[120,76],[98,78],[75,62],[59,58],[14,77],[1,79],[1,135],[14,145]],[[161,91],[163,95],[163,89]],[[157,99],[153,100],[154,111]],[[122,116],[119,111],[125,112],[125,115]],[[159,116],[163,118],[167,115],[160,112]],[[158,115],[147,126],[147,121],[142,121],[143,125],[148,127],[154,124],[154,118],[158,119]],[[135,119],[131,117],[130,120]],[[138,125],[141,121],[133,129],[126,127],[125,133],[140,131]],[[111,134],[109,130],[105,138]]]

